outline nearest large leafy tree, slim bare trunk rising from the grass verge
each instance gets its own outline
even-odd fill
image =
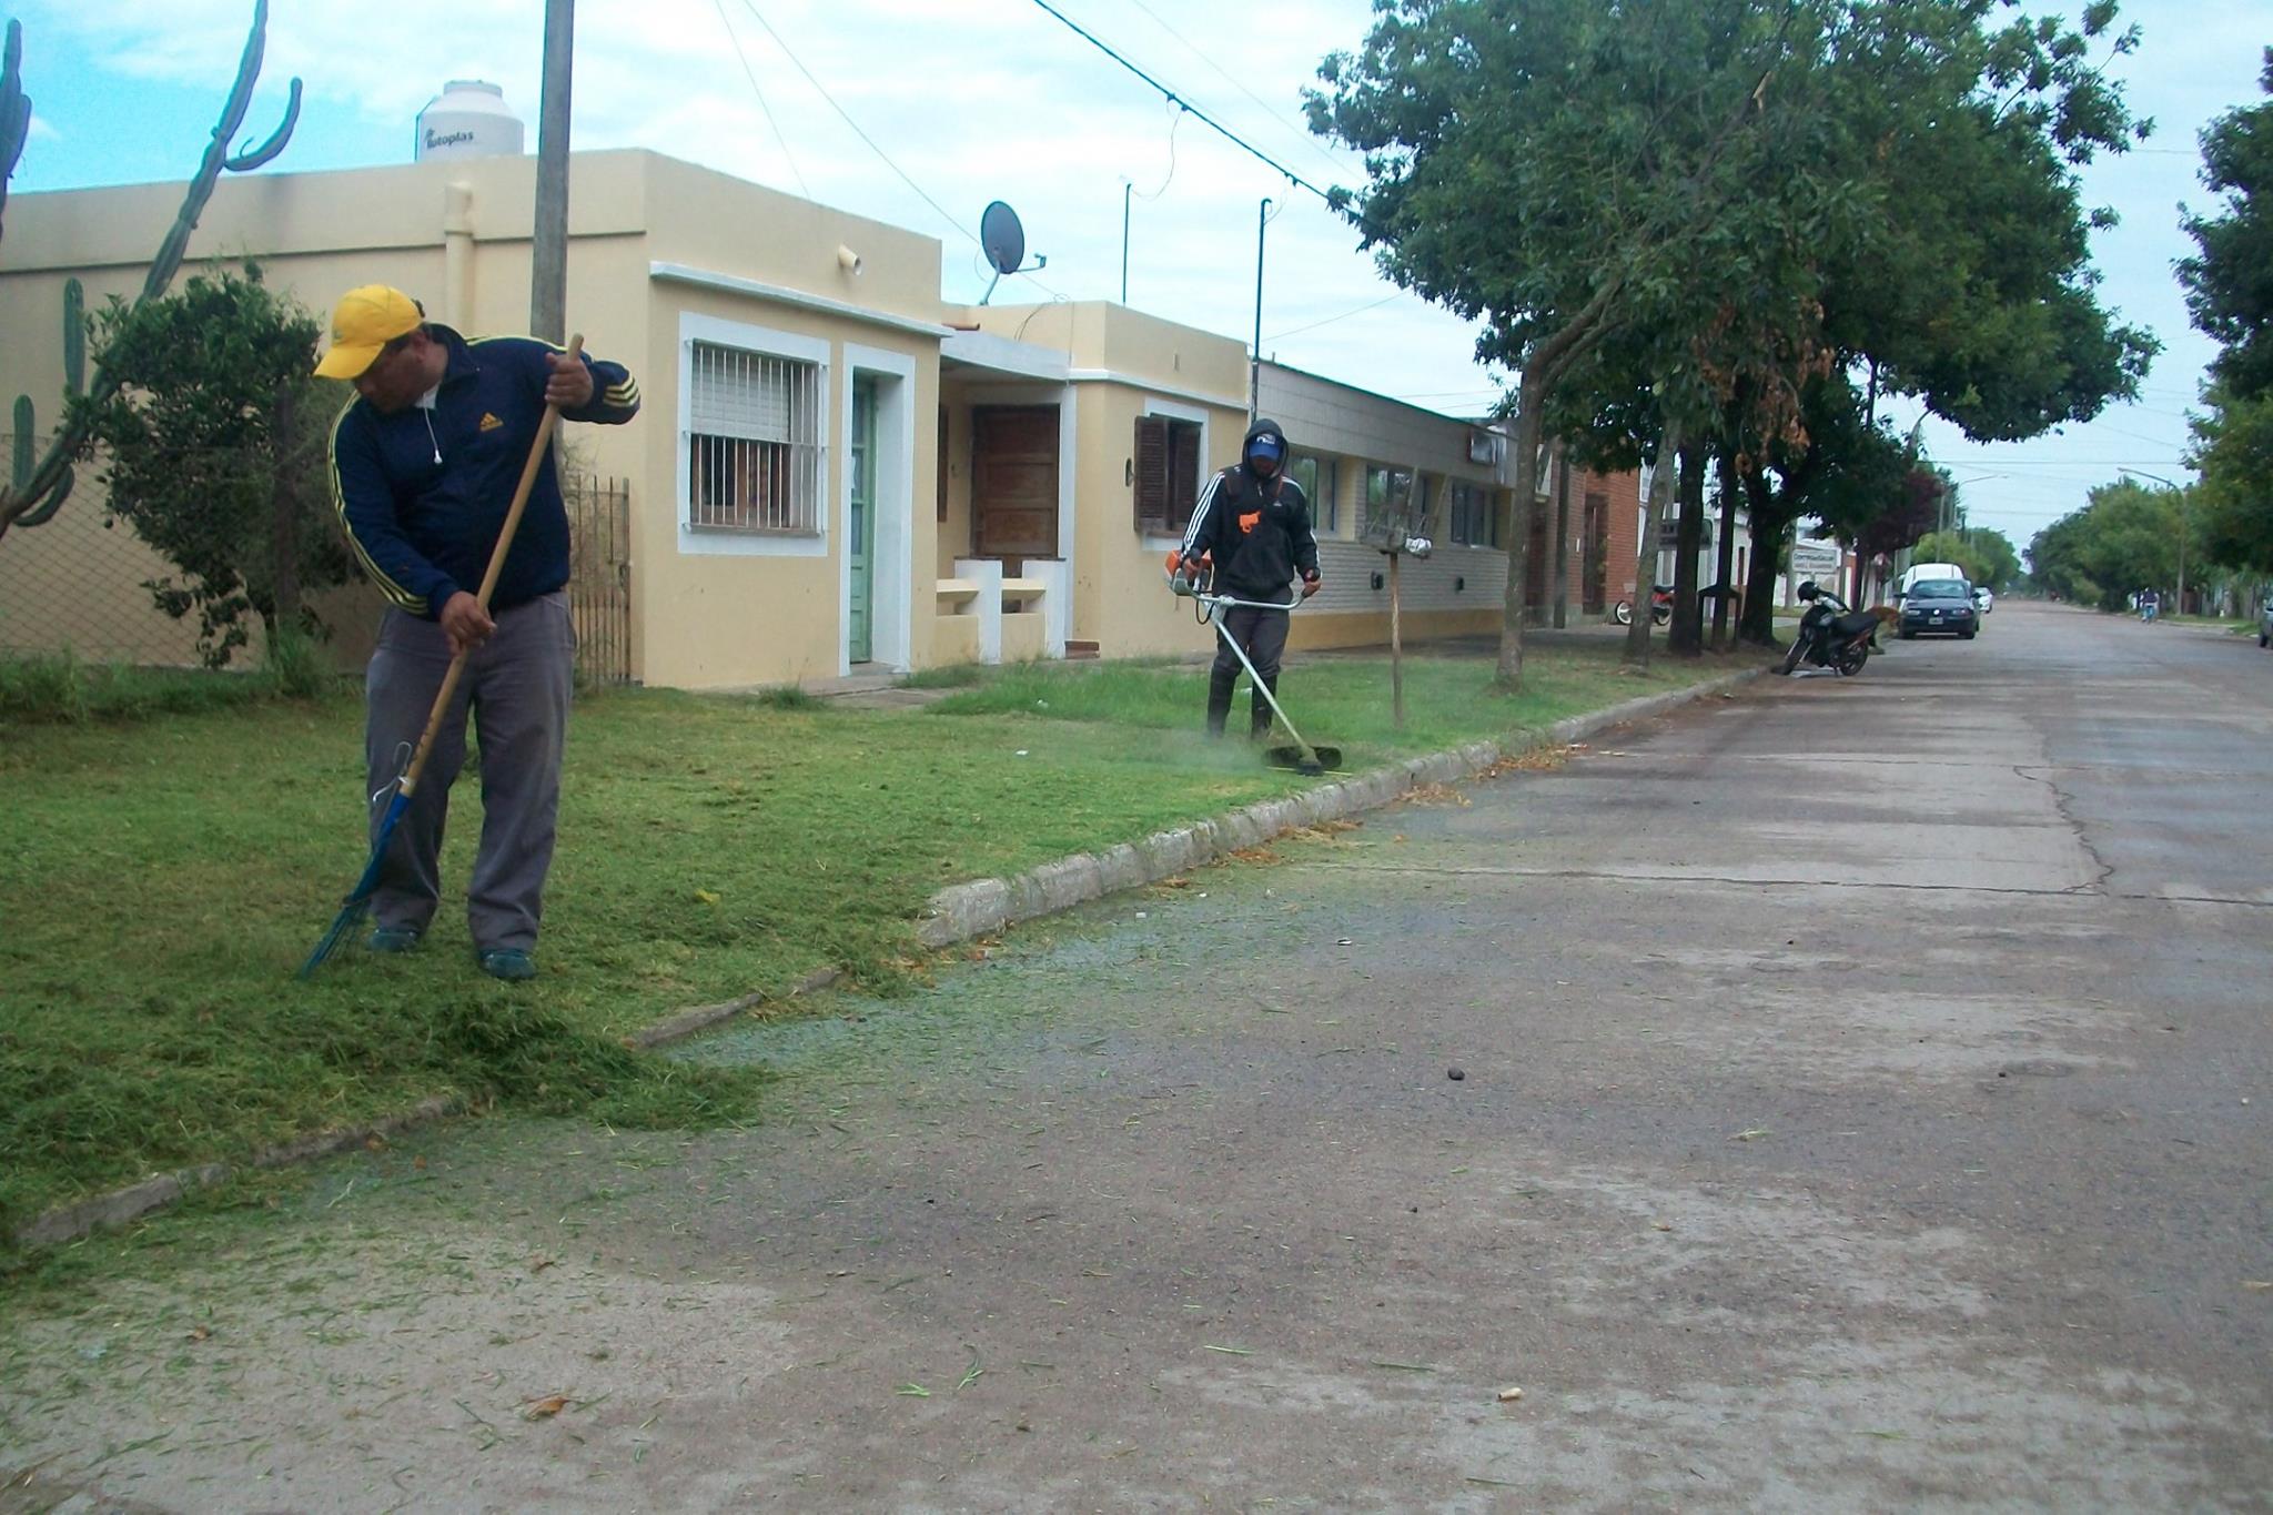
[[[1764,123],[1809,100],[1784,84],[1832,7],[1380,0],[1364,48],[1325,59],[1312,129],[1362,150],[1371,175],[1341,209],[1391,279],[1482,318],[1477,357],[1518,373],[1518,509],[1548,397],[1614,329],[1655,334],[1616,366],[1623,388],[1693,409],[1696,361],[1648,316],[1693,304],[1709,238],[1746,225],[1730,207],[1775,182]],[[1523,666],[1527,541],[1518,520],[1502,684]]]

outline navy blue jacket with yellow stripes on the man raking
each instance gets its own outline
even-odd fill
[[[546,413],[546,354],[561,348],[534,336],[466,341],[434,323],[427,332],[450,350],[434,409],[382,416],[361,397],[348,404],[332,422],[332,504],[380,591],[434,620],[450,595],[482,588]],[[639,384],[623,363],[591,354],[584,363],[591,404],[561,411],[564,420],[621,425],[639,413]],[[566,581],[568,511],[548,457],[489,609],[507,611]]]

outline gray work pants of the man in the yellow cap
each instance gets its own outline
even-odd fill
[[[466,718],[480,740],[482,847],[466,881],[466,924],[477,949],[536,945],[552,831],[561,795],[561,740],[575,677],[568,595],[498,611],[498,631],[473,650],[450,697],[434,752],[380,863],[370,915],[425,931],[441,904],[441,834],[450,786],[466,761]],[[432,620],[386,611],[364,679],[364,759],[370,793],[409,763],[450,670],[450,638]],[[373,806],[373,834],[386,806]]]

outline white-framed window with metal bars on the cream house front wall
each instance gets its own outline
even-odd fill
[[[821,363],[693,343],[686,525],[821,531]]]

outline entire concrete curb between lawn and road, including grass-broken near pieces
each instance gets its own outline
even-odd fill
[[[1318,788],[1302,790],[1300,795],[1264,800],[1262,804],[1237,809],[1216,820],[1177,827],[1175,831],[1155,831],[1141,843],[1121,843],[1118,847],[1107,847],[1105,852],[1077,852],[1066,859],[1041,863],[1039,868],[1027,868],[1009,879],[975,879],[971,884],[955,884],[932,895],[923,920],[916,927],[916,936],[925,947],[934,949],[952,947],[955,943],[966,943],[975,936],[993,936],[1021,920],[1055,915],[1057,911],[1071,911],[1077,904],[1089,904],[1091,899],[1102,899],[1105,895],[1125,888],[1159,884],[1162,879],[1180,874],[1189,868],[1200,868],[1202,863],[1243,847],[1259,847],[1275,836],[1287,836],[1289,831],[1300,831],[1302,827],[1316,827],[1327,820],[1339,820],[1341,815],[1355,815],[1357,811],[1375,811],[1425,784],[1455,784],[1484,772],[1507,756],[1537,752],[1541,747],[1562,747],[1584,740],[1596,731],[1607,731],[1609,727],[1648,720],[1650,715],[1659,715],[1693,700],[1707,700],[1737,688],[1748,679],[1757,679],[1759,672],[1762,670],[1757,668],[1732,672],[1721,679],[1693,684],[1691,688],[1675,688],[1643,700],[1627,700],[1625,704],[1614,704],[1607,711],[1596,711],[1591,715],[1557,720],[1552,727],[1525,743],[1468,743],[1466,747],[1455,747],[1452,752],[1405,759],[1402,763],[1391,763],[1389,768],[1375,768],[1373,772],[1352,775],[1334,784],[1321,784]],[[841,970],[823,968],[780,995],[743,995],[741,999],[727,999],[723,1004],[698,1004],[677,1011],[675,1015],[666,1015],[664,1020],[657,1020],[623,1040],[625,1045],[639,1049],[661,1047],[666,1043],[684,1040],[696,1031],[707,1031],[709,1027],[732,1020],[743,1011],[755,1011],[761,1004],[777,1004],[782,999],[811,995],[836,984],[841,977]],[[189,1192],[225,1183],[236,1177],[236,1172],[311,1163],[352,1147],[389,1140],[414,1127],[464,1115],[468,1108],[471,1102],[464,1095],[439,1095],[434,1099],[418,1102],[400,1115],[386,1115],[384,1120],[357,1127],[339,1127],[334,1131],[316,1131],[284,1142],[282,1147],[268,1147],[241,1165],[205,1163],[202,1167],[157,1174],[143,1179],[141,1183],[130,1183],[127,1188],[116,1188],[107,1195],[95,1195],[91,1199],[80,1199],[77,1204],[48,1211],[30,1224],[18,1227],[14,1240],[18,1247],[52,1247],[57,1242],[73,1242],[91,1231],[141,1220],[150,1211],[175,1204]]]

